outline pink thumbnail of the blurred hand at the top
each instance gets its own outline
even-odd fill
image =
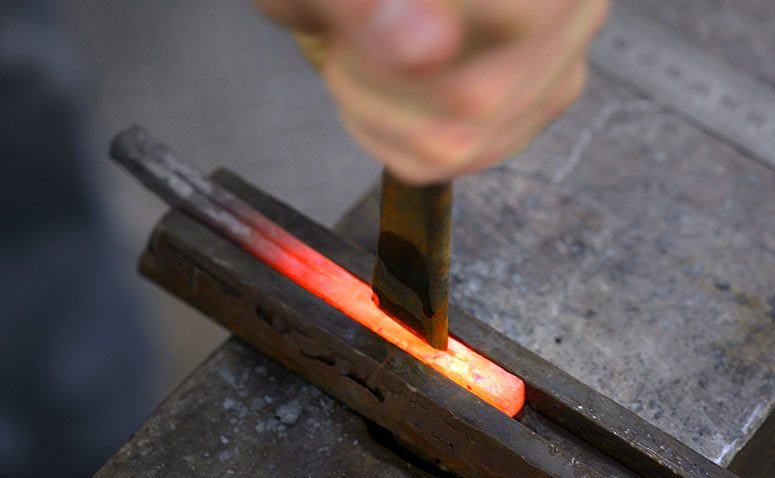
[[[366,28],[374,54],[388,63],[415,65],[432,60],[444,47],[444,25],[417,0],[383,0]]]

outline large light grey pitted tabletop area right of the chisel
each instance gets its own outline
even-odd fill
[[[775,174],[627,88],[460,181],[451,297],[728,464],[775,406]]]

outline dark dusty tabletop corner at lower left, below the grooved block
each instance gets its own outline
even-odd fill
[[[430,477],[314,385],[231,340],[97,477]]]

